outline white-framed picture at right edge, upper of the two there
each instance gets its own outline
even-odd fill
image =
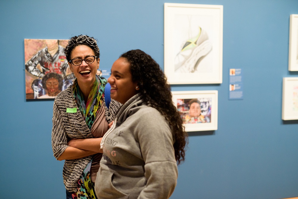
[[[298,15],[290,15],[289,71],[298,71]]]

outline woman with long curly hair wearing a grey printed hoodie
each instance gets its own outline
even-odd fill
[[[169,198],[184,161],[187,133],[155,60],[131,50],[111,68],[111,98],[123,105],[101,141],[98,198]]]

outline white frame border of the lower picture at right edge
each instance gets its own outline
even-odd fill
[[[290,81],[297,81],[298,85],[298,77],[283,77],[282,120],[298,120],[298,115],[291,116],[288,110],[289,98],[291,98],[287,95],[290,90],[288,88]]]

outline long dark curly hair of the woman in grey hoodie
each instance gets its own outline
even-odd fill
[[[171,87],[153,58],[142,50],[130,50],[120,57],[130,63],[132,81],[137,82],[147,105],[156,108],[169,122],[173,131],[175,158],[178,164],[185,159],[187,133],[172,101]]]

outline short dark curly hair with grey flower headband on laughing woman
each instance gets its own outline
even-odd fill
[[[71,60],[72,50],[80,45],[89,46],[93,50],[94,55],[99,58],[100,52],[97,46],[97,40],[93,37],[89,37],[88,35],[79,35],[69,38],[68,44],[64,49],[64,55],[66,56],[66,60],[68,62]]]

